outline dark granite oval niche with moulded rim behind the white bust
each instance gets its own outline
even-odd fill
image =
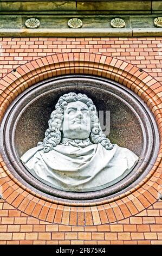
[[[113,184],[93,192],[67,192],[36,178],[20,157],[42,141],[50,113],[65,93],[83,93],[98,111],[110,111],[112,143],[137,154],[137,166]],[[1,126],[1,153],[10,172],[31,190],[68,202],[92,202],[118,196],[137,185],[150,172],[159,149],[159,133],[152,112],[139,96],[121,84],[95,76],[71,75],[51,78],[25,90],[5,113]]]

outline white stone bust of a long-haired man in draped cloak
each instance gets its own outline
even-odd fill
[[[124,178],[139,160],[106,138],[96,107],[85,94],[61,96],[48,124],[43,142],[21,161],[36,178],[59,190],[101,190]]]

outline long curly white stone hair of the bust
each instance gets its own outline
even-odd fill
[[[45,132],[45,138],[43,139],[43,142],[38,142],[37,145],[44,145],[44,152],[47,153],[61,142],[60,127],[63,121],[64,109],[67,107],[69,102],[74,101],[81,101],[89,108],[92,125],[92,131],[89,136],[90,141],[93,144],[101,143],[104,148],[111,150],[113,145],[101,130],[98,114],[93,101],[89,99],[87,95],[81,93],[68,93],[60,97],[56,104],[56,110],[54,110],[50,115],[50,119],[48,121],[49,127]]]

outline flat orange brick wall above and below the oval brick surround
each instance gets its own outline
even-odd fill
[[[103,53],[143,69],[162,83],[162,38],[154,37],[1,38],[0,77],[19,65],[60,52]],[[1,199],[0,223],[0,243],[3,244],[162,244],[161,201],[125,220],[85,227],[44,222]]]

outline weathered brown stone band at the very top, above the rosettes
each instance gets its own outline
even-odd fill
[[[42,1],[42,0],[5,0],[0,3],[1,12],[8,13],[29,13],[30,11],[35,13],[47,13],[47,11],[59,13],[69,11],[70,13],[128,13],[128,14],[139,14],[139,13],[151,13],[152,6],[153,10],[159,10],[161,8],[161,1],[125,1],[125,0],[64,0],[64,1]],[[34,13],[33,13],[34,14]]]

